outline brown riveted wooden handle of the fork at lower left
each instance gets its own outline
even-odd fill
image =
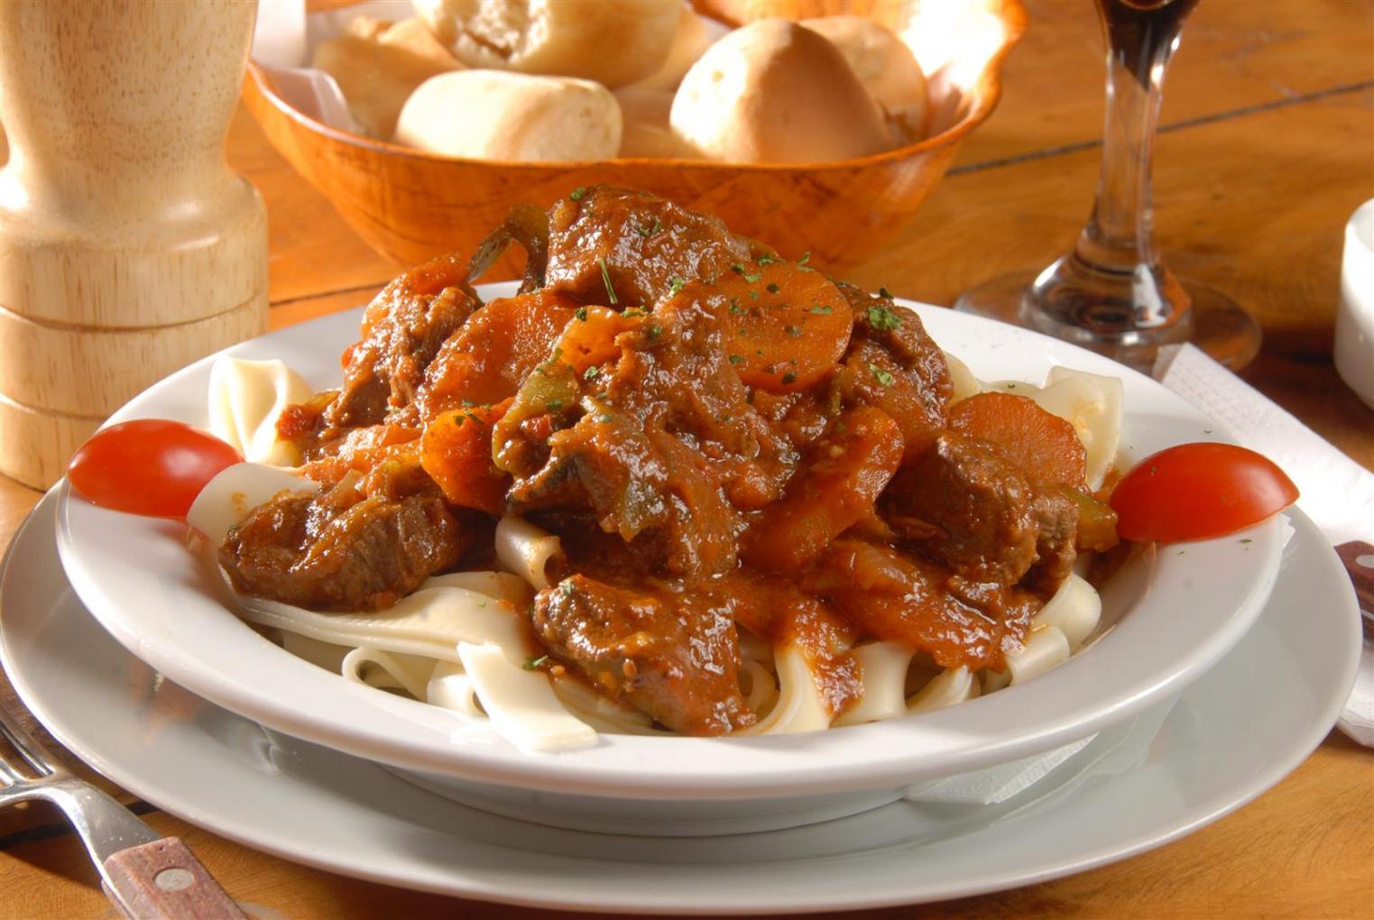
[[[162,838],[104,861],[121,908],[137,920],[247,920],[177,838]]]

